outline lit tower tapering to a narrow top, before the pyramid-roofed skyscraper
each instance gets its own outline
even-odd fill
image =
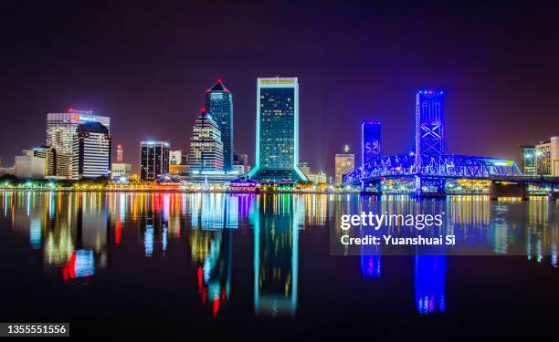
[[[223,142],[216,121],[202,109],[190,139],[190,171],[223,171]]]

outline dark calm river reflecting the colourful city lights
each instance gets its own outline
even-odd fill
[[[464,241],[495,256],[331,256],[331,224],[372,201],[0,192],[0,321],[70,321],[75,337],[116,329],[268,339],[558,323],[559,202],[420,202],[445,207]],[[406,197],[376,203],[417,204]],[[506,255],[518,248],[525,254]]]

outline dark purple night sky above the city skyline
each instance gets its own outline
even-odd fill
[[[446,90],[450,153],[513,158],[559,135],[558,11],[543,3],[161,3],[0,5],[3,166],[72,107],[110,116],[138,171],[140,140],[188,149],[216,77],[252,165],[257,77],[299,78],[301,161],[331,175],[363,119],[382,122],[383,154],[411,150],[418,88]]]

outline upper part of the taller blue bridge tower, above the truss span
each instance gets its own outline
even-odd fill
[[[444,93],[418,90],[416,94],[416,156],[445,152]]]

